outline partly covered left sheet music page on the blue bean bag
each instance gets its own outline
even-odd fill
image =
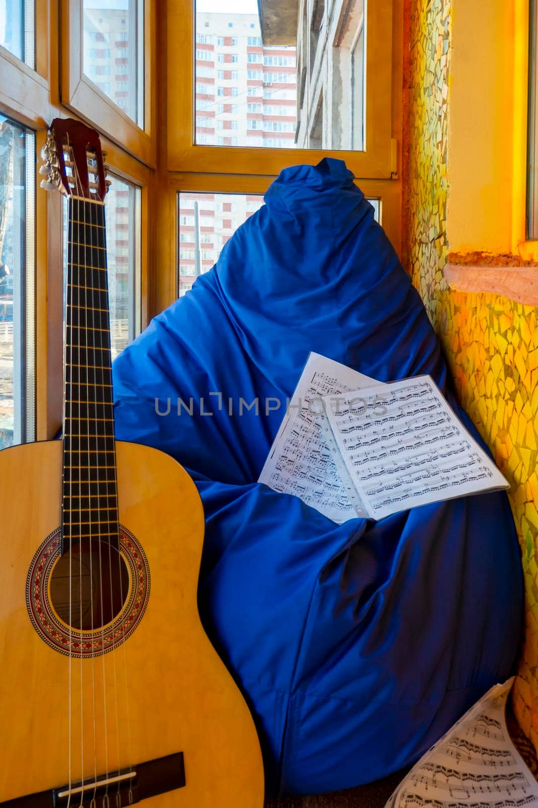
[[[324,396],[379,384],[327,356],[311,353],[258,482],[283,494],[295,494],[338,524],[366,516],[357,494],[352,500],[342,482],[341,458],[327,447],[319,405]]]

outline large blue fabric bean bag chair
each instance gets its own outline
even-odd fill
[[[168,452],[198,486],[200,615],[252,709],[273,793],[412,764],[511,675],[522,625],[506,494],[339,526],[256,482],[309,351],[379,381],[430,373],[477,436],[353,179],[328,158],[283,170],[215,267],[114,364],[116,437]]]

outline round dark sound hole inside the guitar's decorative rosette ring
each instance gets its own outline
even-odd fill
[[[58,558],[50,578],[50,600],[72,629],[101,629],[118,617],[127,600],[129,573],[118,550],[87,539]],[[70,596],[69,596],[70,595]]]

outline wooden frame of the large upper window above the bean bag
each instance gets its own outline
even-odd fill
[[[344,159],[356,177],[390,179],[397,170],[391,143],[393,0],[370,0],[366,24],[366,150],[264,149],[194,144],[194,0],[169,2],[168,168],[171,171],[274,175],[298,163],[316,164],[327,154]]]

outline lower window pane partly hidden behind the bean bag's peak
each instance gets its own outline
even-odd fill
[[[370,199],[379,221],[381,200]],[[177,293],[183,297],[199,275],[217,262],[236,229],[264,204],[258,194],[177,194],[179,245]]]

